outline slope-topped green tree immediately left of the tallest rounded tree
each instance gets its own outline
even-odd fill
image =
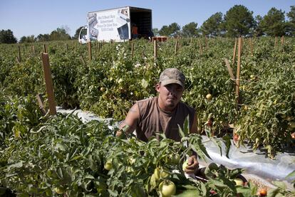
[[[215,37],[222,36],[222,13],[217,12],[210,16],[201,26],[203,36]]]

